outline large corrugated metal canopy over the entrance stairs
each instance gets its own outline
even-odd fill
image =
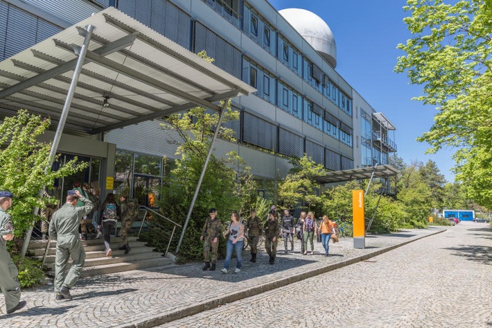
[[[163,35],[107,8],[0,62],[0,112],[25,108],[58,125],[84,42],[95,26],[67,128],[89,134],[148,121],[256,89]]]

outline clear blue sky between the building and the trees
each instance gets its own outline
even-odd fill
[[[436,110],[411,101],[421,86],[410,85],[405,74],[393,69],[403,51],[396,49],[412,35],[403,18],[403,0],[270,0],[276,10],[303,8],[314,12],[330,26],[337,44],[336,71],[377,111],[396,126],[398,156],[407,164],[437,163],[446,180],[453,182],[453,150],[426,155],[428,144],[416,141],[430,129]]]

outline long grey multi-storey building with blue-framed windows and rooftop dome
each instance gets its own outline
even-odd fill
[[[227,126],[237,142],[219,140],[214,151],[220,156],[236,150],[252,167],[261,196],[274,198],[290,157],[306,153],[340,171],[387,164],[388,153],[396,151],[394,134],[388,135],[392,123],[335,71],[328,25],[307,10],[277,12],[266,0],[0,0],[0,61],[108,6],[189,51],[207,51],[217,67],[257,90],[232,99],[240,120]],[[161,184],[167,159],[175,154],[175,144],[167,142],[173,133],[160,123],[143,121],[90,136],[116,145],[114,188],[130,184],[147,205],[147,191]],[[64,157],[73,155],[76,150]],[[84,155],[91,169],[80,179],[103,180],[98,155]]]

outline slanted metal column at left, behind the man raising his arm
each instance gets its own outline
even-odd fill
[[[77,87],[80,71],[82,71],[82,66],[84,65],[85,55],[87,55],[87,49],[89,48],[89,42],[91,41],[92,32],[94,31],[94,28],[96,28],[96,26],[93,25],[86,26],[87,31],[85,33],[84,43],[82,44],[82,47],[78,50],[79,53],[78,53],[77,66],[73,71],[73,77],[70,83],[69,93],[67,94],[67,100],[65,100],[65,104],[62,110],[62,115],[60,116],[58,127],[56,128],[56,134],[55,134],[55,138],[53,139],[53,144],[51,144],[48,164],[46,164],[46,168],[44,169],[45,172],[49,171],[51,169],[51,166],[53,165],[53,160],[55,159],[56,151],[58,150],[58,144],[60,144],[60,138],[62,137],[63,129],[65,127],[65,122],[67,121],[67,116],[69,115],[73,94],[75,94],[75,89]],[[76,49],[74,50],[77,52]],[[39,191],[39,197],[42,197],[43,194],[44,194],[44,187],[41,191]],[[63,195],[62,195],[62,201],[63,201]],[[35,211],[34,213],[36,214],[38,210],[39,209],[36,207],[34,209]],[[22,244],[21,257],[26,256],[27,248],[30,241],[30,235],[33,233],[34,224],[35,221],[33,221],[33,224],[31,225],[30,229],[26,232],[26,238],[24,239],[24,243]]]

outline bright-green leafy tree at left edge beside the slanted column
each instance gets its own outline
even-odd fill
[[[14,194],[8,212],[15,225],[15,236],[21,236],[37,217],[35,207],[43,208],[47,198],[39,198],[44,186],[53,186],[55,179],[63,178],[87,167],[74,158],[60,166],[58,171],[47,171],[51,142],[37,141],[49,128],[50,120],[19,110],[17,116],[6,117],[0,124],[0,189]]]

